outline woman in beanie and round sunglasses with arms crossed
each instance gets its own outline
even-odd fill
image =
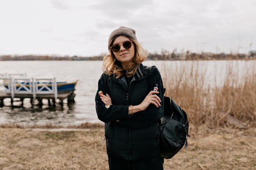
[[[134,29],[114,30],[108,49],[95,102],[105,122],[109,169],[163,170],[157,127],[164,114],[161,75],[156,67],[146,75],[146,53]]]

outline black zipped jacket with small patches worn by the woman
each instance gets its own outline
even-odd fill
[[[146,75],[146,66],[139,64],[130,85],[126,84],[125,77],[115,78],[102,74],[99,79],[98,91],[95,96],[98,118],[105,122],[105,138],[107,154],[126,160],[149,159],[160,155],[159,129],[157,121],[164,114],[164,90],[161,75],[156,67],[150,75]],[[150,104],[146,110],[128,115],[128,107],[141,104],[146,95],[159,88],[161,106],[157,108]],[[107,108],[98,94],[108,93],[112,105]]]

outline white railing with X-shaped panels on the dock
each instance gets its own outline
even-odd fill
[[[50,88],[51,87],[51,88]],[[26,78],[0,78],[0,92],[15,95],[26,94],[36,99],[37,95],[54,95],[58,98],[56,79],[26,79]]]

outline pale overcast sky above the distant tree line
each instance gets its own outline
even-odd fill
[[[256,0],[1,0],[0,55],[99,55],[119,26],[150,53],[248,53]]]

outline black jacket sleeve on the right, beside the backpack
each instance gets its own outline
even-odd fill
[[[150,104],[146,110],[139,111],[130,118],[120,120],[119,124],[121,126],[131,127],[131,128],[145,128],[151,124],[157,123],[161,117],[164,115],[164,87],[162,83],[161,75],[156,67],[152,68],[152,73],[148,75],[148,93],[153,91],[157,84],[158,91],[160,93],[157,96],[161,99],[161,106],[158,108]]]

